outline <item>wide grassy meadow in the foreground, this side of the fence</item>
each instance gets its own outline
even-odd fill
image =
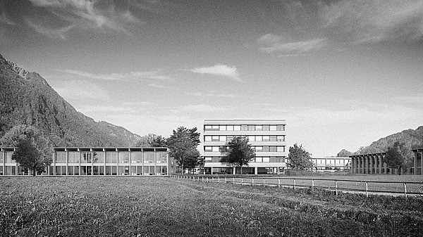
[[[423,199],[167,177],[1,177],[0,236],[421,236]]]

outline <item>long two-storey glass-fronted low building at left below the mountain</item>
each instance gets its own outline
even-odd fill
[[[0,175],[30,174],[0,148]],[[168,175],[174,170],[167,148],[54,148],[53,162],[41,175]]]

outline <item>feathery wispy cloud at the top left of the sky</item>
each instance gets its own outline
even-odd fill
[[[45,20],[27,18],[27,23],[37,32],[47,37],[65,39],[69,31],[73,29],[99,29],[112,30],[130,35],[126,29],[127,23],[142,23],[130,11],[118,11],[114,5],[107,8],[100,8],[97,1],[89,0],[30,0],[32,4],[44,8],[51,15],[51,18],[61,22],[57,25],[64,27],[51,27]],[[51,22],[51,20],[50,20]]]

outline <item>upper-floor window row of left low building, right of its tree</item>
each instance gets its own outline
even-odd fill
[[[66,152],[56,152],[56,163],[66,163]],[[166,163],[167,153],[68,152],[68,163]]]

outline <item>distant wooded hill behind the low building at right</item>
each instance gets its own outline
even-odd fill
[[[382,153],[386,152],[388,146],[392,146],[396,141],[404,142],[410,148],[419,148],[423,146],[423,126],[417,127],[417,129],[407,129],[403,132],[398,132],[381,138],[377,141],[372,142],[370,146],[362,147],[355,153],[348,150],[341,150],[337,156],[341,155],[358,155],[358,154],[369,154],[369,153]]]

